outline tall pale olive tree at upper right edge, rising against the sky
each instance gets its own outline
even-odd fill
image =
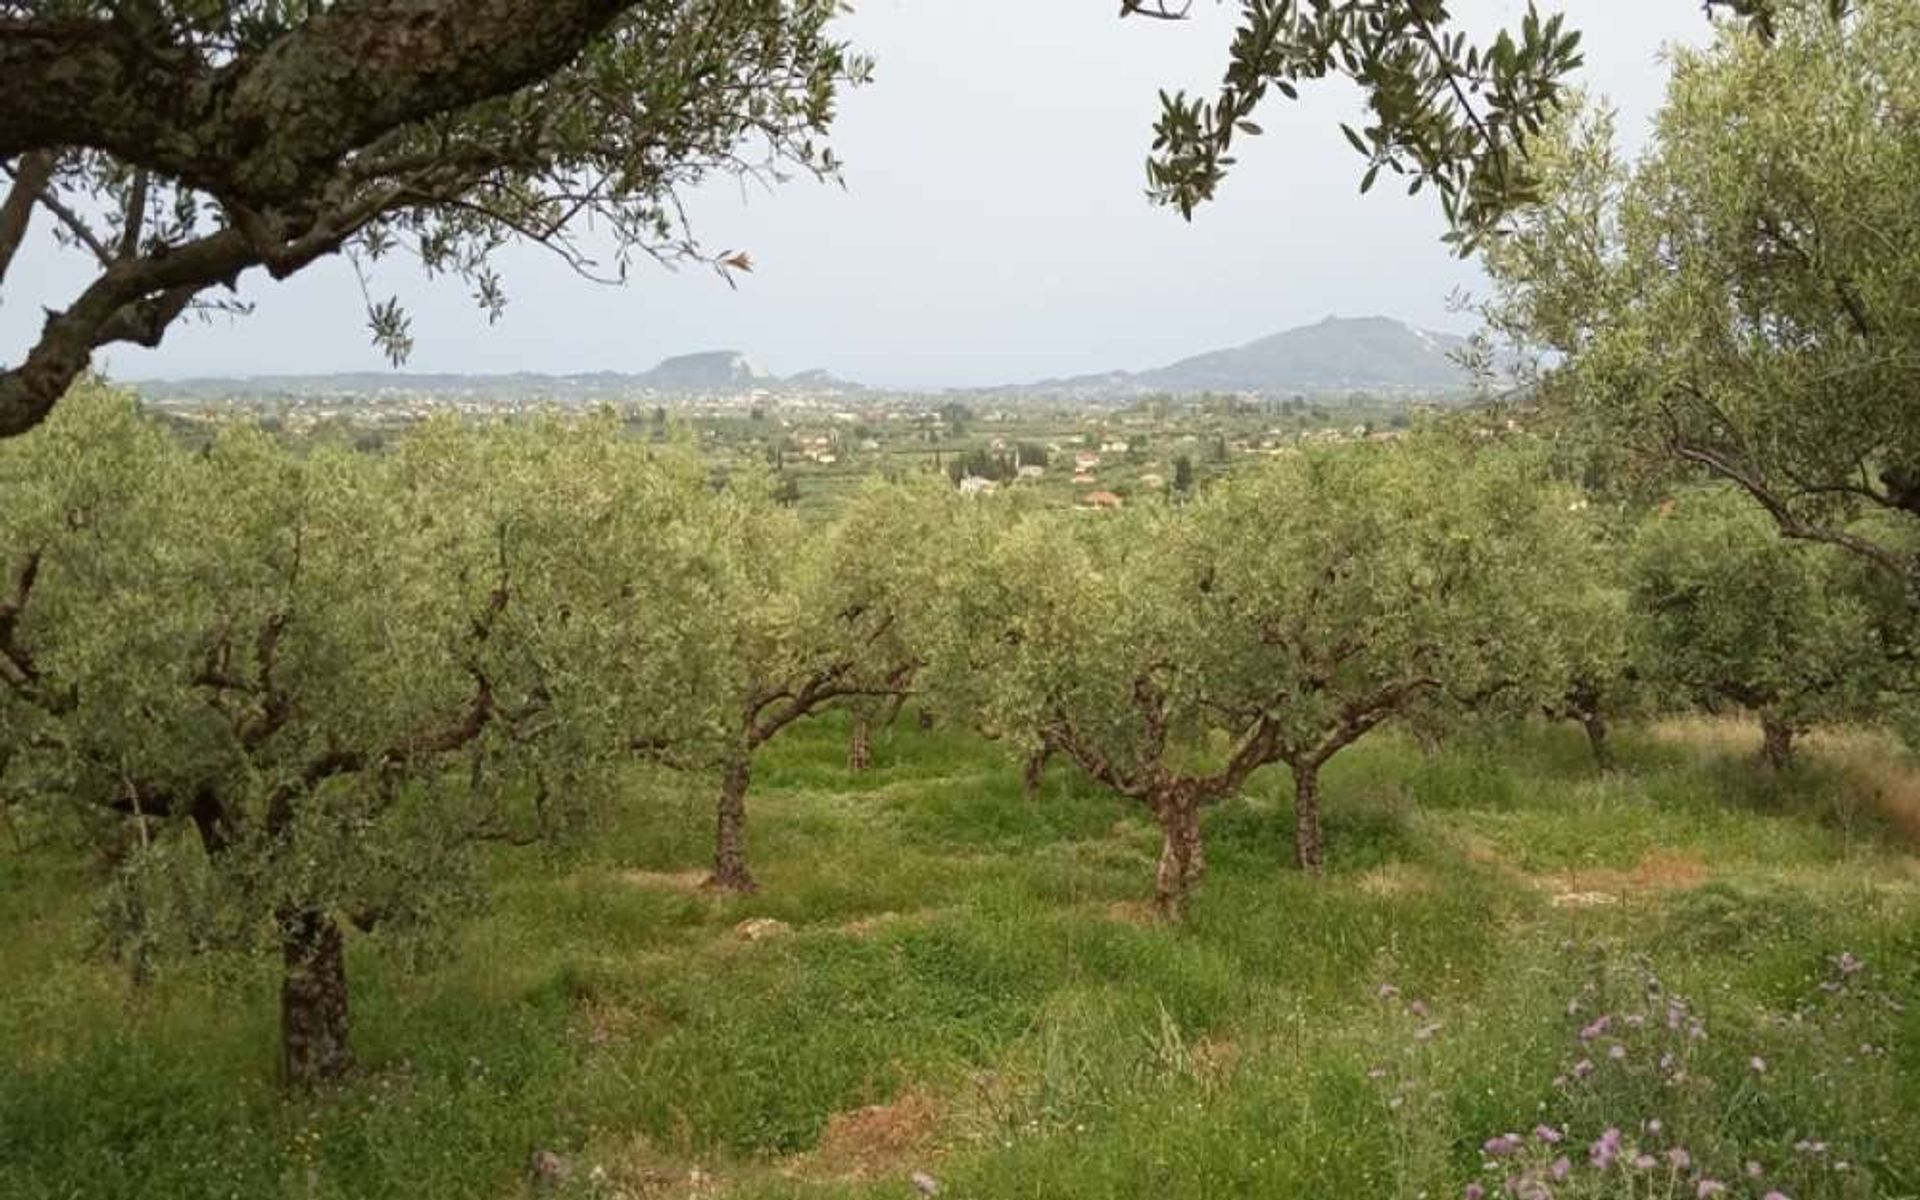
[[[1638,163],[1596,111],[1536,146],[1544,204],[1490,244],[1490,311],[1603,436],[1740,488],[1920,611],[1920,13],[1839,8],[1678,50]]]

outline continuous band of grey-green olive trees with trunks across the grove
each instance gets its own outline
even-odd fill
[[[1530,438],[1327,447],[1089,516],[939,478],[826,530],[614,419],[428,422],[386,453],[244,424],[186,447],[106,388],[0,447],[0,787],[108,866],[136,972],[284,962],[292,1083],[349,1064],[344,935],[430,931],[484,847],[712,780],[753,889],[755,755],[829,707],[849,760],[914,697],[1137,801],[1179,918],[1200,814],[1267,766],[1319,870],[1319,772],[1388,722],[1738,705],[1784,764],[1908,710],[1912,612],[1724,490],[1588,503]]]

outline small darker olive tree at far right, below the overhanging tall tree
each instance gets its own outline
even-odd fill
[[[1884,609],[1859,563],[1784,541],[1726,488],[1676,497],[1632,551],[1645,672],[1707,707],[1738,705],[1786,766],[1811,726],[1870,716],[1887,676]]]

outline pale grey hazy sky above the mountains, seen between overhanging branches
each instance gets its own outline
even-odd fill
[[[712,250],[756,271],[730,290],[701,269],[641,269],[626,288],[543,253],[505,265],[511,305],[488,326],[457,282],[405,267],[376,278],[415,319],[413,371],[645,371],[693,349],[743,349],[776,372],[828,367],[883,386],[962,386],[1139,369],[1325,315],[1384,313],[1459,328],[1453,288],[1476,271],[1438,242],[1430,194],[1356,194],[1359,157],[1336,123],[1340,84],[1261,113],[1223,196],[1185,225],[1142,196],[1162,86],[1210,88],[1233,4],[1185,25],[1119,21],[1112,0],[860,0],[845,35],[877,60],[849,94],[835,150],[845,188],[793,182],[693,198]],[[1542,8],[1551,8],[1542,4]],[[1697,42],[1697,0],[1565,0],[1586,35],[1586,86],[1638,142],[1659,102],[1659,48]],[[1463,0],[1476,36],[1523,0]],[[0,361],[17,361],[46,305],[83,278],[46,244],[15,263]],[[359,284],[340,261],[242,292],[238,324],[180,326],[159,351],[115,348],[123,378],[380,369]]]

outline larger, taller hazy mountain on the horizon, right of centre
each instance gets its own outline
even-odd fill
[[[1043,380],[1027,392],[1465,392],[1467,372],[1448,355],[1467,344],[1390,317],[1327,317],[1286,332],[1198,353],[1148,371]]]

